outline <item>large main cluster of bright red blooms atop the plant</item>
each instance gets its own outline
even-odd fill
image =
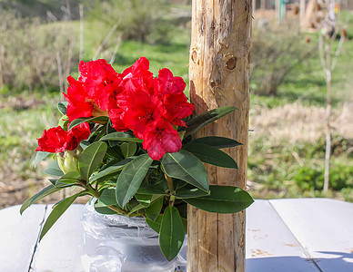
[[[176,152],[182,143],[173,127],[186,126],[183,118],[191,115],[194,106],[184,94],[186,83],[168,69],[154,78],[149,62],[141,57],[123,73],[116,73],[105,60],[79,64],[80,77],[67,78],[67,116],[107,115],[116,131],[134,132],[144,140],[143,147],[153,160],[166,152]]]

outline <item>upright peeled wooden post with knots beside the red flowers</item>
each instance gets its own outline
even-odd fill
[[[193,0],[190,96],[197,114],[237,111],[197,133],[242,142],[229,149],[238,170],[210,167],[210,184],[246,188],[252,0]],[[188,208],[187,271],[245,271],[245,212],[222,215]]]

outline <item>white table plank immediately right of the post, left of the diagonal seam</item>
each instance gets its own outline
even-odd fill
[[[247,209],[247,272],[318,272],[267,200]]]

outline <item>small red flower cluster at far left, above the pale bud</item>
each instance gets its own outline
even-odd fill
[[[90,133],[89,125],[86,122],[76,126],[71,131],[64,131],[60,126],[51,128],[44,131],[43,136],[37,139],[39,147],[35,151],[51,153],[74,151],[80,141],[86,140]]]

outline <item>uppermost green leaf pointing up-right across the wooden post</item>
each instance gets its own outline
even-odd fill
[[[235,107],[221,107],[198,115],[197,117],[191,119],[190,121],[187,121],[187,132],[185,133],[184,137],[187,137],[188,135],[195,133],[196,131],[206,126],[210,122],[216,121],[217,119],[235,110],[237,110],[237,108]]]

